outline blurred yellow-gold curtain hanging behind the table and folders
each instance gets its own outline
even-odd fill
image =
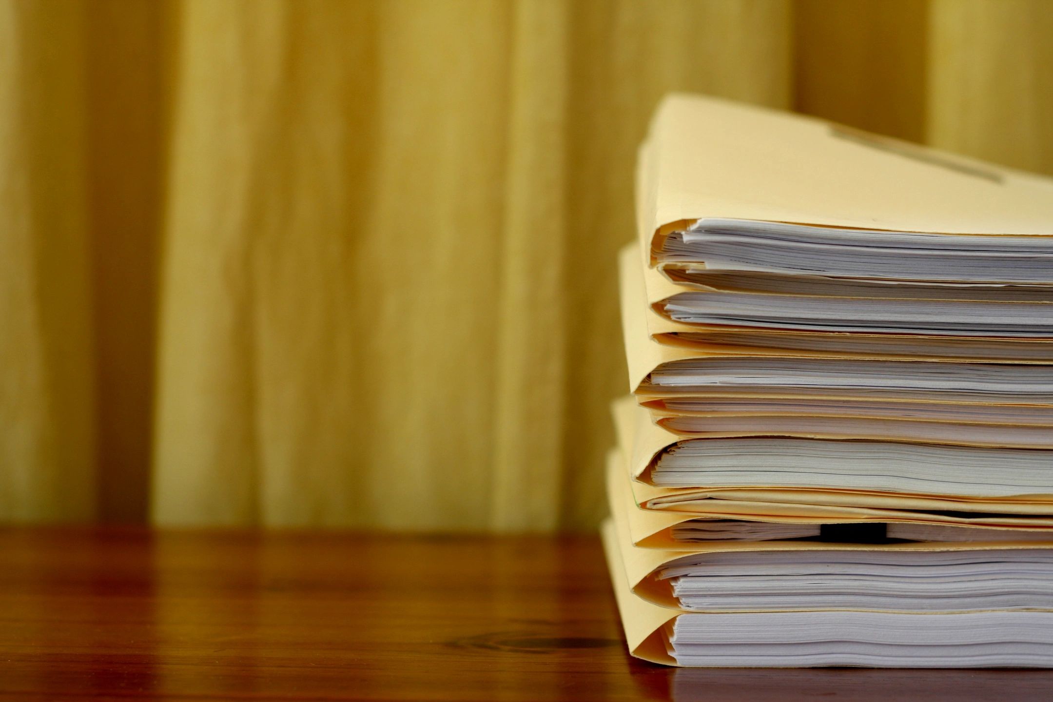
[[[0,521],[593,529],[660,96],[1053,173],[1048,0],[0,2]]]

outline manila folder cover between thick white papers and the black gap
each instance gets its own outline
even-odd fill
[[[677,498],[680,502],[662,509],[707,514],[816,514],[821,509],[823,517],[881,516],[887,520],[892,513],[940,513],[967,512],[988,513],[975,518],[953,517],[932,514],[927,517],[934,522],[947,524],[1005,524],[1020,525],[1010,515],[1032,516],[1027,524],[1047,525],[1047,520],[1038,522],[1034,516],[1053,517],[1053,496],[1005,497],[980,499],[968,496],[919,495],[899,493],[877,493],[870,490],[803,489],[735,487],[734,485],[713,487],[659,487],[652,482],[652,469],[659,456],[670,446],[681,441],[681,437],[670,434],[651,421],[650,413],[622,398],[612,403],[612,413],[618,436],[618,444],[629,457],[629,473],[633,477],[633,495],[636,503],[655,508],[658,498]],[[691,500],[692,502],[683,502]],[[731,503],[737,503],[734,506]],[[763,506],[760,506],[760,505]],[[746,512],[739,513],[739,509]],[[860,512],[860,509],[862,512]],[[727,512],[724,512],[727,510]],[[803,512],[802,512],[803,510]],[[917,516],[912,516],[917,519]],[[1053,524],[1053,519],[1049,520]]]

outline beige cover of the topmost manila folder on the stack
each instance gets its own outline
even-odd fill
[[[707,217],[1053,235],[1050,179],[719,98],[668,96],[638,178],[641,243],[651,253],[670,232]]]

